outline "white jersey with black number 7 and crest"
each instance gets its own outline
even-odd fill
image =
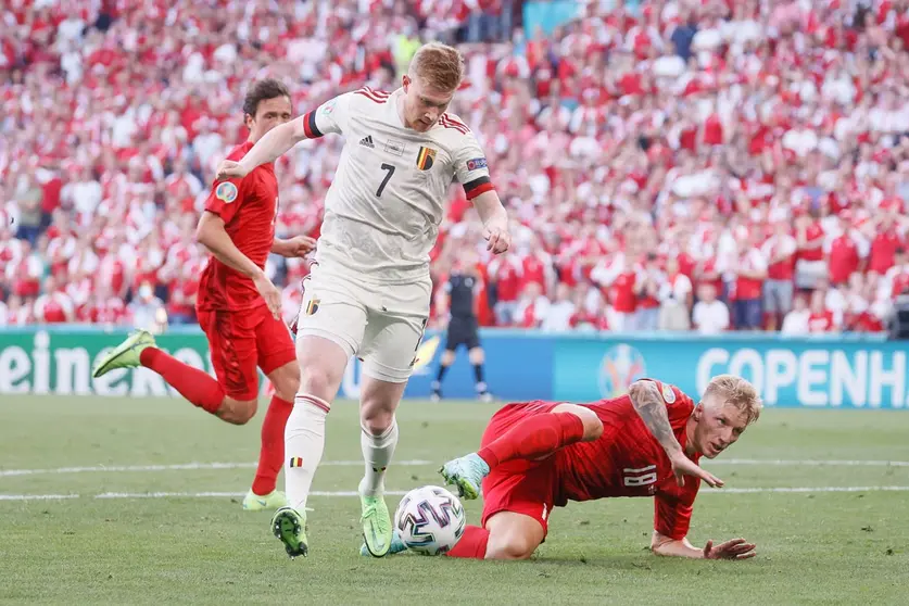
[[[397,109],[403,97],[403,88],[365,87],[303,118],[307,137],[344,137],[316,261],[374,283],[428,280],[452,182],[460,182],[468,199],[492,189],[470,129],[453,114],[442,114],[427,132],[407,128]]]

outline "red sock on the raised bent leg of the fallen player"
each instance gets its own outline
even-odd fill
[[[503,435],[483,446],[477,454],[490,469],[515,458],[539,458],[563,446],[580,442],[584,424],[571,413],[555,413],[527,417]]]

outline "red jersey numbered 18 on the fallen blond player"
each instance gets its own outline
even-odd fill
[[[656,381],[662,393],[676,439],[685,447],[685,427],[694,402],[678,388]],[[586,404],[603,421],[603,435],[593,442],[578,442],[557,456],[559,485],[555,505],[607,496],[655,497],[654,528],[680,540],[687,534],[692,505],[700,480],[685,478],[679,487],[666,452],[634,409],[629,395]],[[700,453],[692,460],[697,463]]]

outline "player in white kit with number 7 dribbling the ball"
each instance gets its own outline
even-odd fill
[[[272,520],[291,557],[306,555],[306,497],[325,446],[325,419],[351,356],[363,359],[359,483],[363,535],[386,555],[392,522],[383,478],[397,443],[394,412],[429,317],[429,252],[457,180],[483,223],[487,248],[508,250],[508,217],[470,129],[445,110],[464,76],[460,53],[431,42],[394,92],[364,87],[265,135],[218,179],[242,177],[303,139],[336,132],[344,148],[325,203],[316,263],[298,321],[300,392],[285,433],[289,506]]]

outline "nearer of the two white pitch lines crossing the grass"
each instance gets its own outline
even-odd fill
[[[702,494],[760,494],[760,493],[824,493],[824,492],[909,492],[909,487],[767,487],[767,488],[706,488]],[[356,491],[313,491],[310,496],[358,496]],[[403,496],[404,490],[386,492],[389,496]],[[102,492],[90,498],[233,498],[243,492]],[[0,501],[53,501],[80,498],[79,494],[0,494]]]

